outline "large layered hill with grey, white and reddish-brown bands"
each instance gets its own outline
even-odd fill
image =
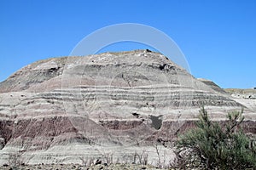
[[[247,107],[212,87],[144,50],[38,61],[0,83],[0,163],[17,151],[31,164],[145,150],[154,161],[154,141],[193,127],[201,105],[216,121]],[[249,133],[255,108],[245,110]]]

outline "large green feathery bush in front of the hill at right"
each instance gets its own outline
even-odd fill
[[[202,108],[196,128],[180,136],[176,143],[177,164],[181,168],[245,169],[256,167],[256,148],[238,129],[243,110],[232,111],[224,126],[212,122]],[[238,131],[238,132],[237,132]]]

